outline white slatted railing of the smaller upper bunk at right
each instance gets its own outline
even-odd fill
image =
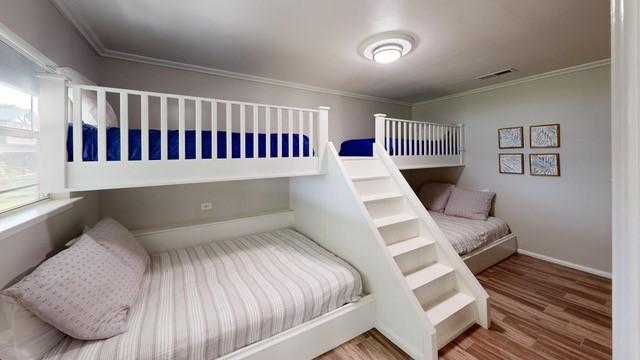
[[[374,116],[375,142],[387,150],[400,170],[464,165],[464,125]],[[393,141],[399,143],[398,149]]]

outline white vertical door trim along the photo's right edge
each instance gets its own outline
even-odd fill
[[[640,4],[612,4],[613,359],[640,359]]]

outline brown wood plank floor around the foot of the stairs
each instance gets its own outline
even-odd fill
[[[478,275],[491,296],[491,328],[474,326],[440,359],[611,359],[611,281],[514,255]],[[319,357],[409,359],[378,331]]]

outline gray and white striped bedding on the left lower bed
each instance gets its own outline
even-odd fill
[[[214,359],[359,299],[360,274],[292,229],[152,256],[129,331],[44,359]]]

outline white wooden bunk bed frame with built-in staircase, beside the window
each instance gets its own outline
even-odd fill
[[[75,98],[71,106],[69,89],[72,99]],[[83,112],[77,106],[82,103],[78,99],[85,91],[95,92],[97,99],[98,123],[91,129],[97,144],[92,150],[95,153],[90,156],[84,153]],[[111,132],[120,134],[123,141],[115,145],[108,143],[108,94],[115,94],[119,99],[119,128],[111,128]],[[140,136],[144,140],[139,156],[131,155],[134,145],[128,136],[129,130],[134,129],[129,118],[134,113],[132,97],[140,99]],[[153,127],[153,112],[148,107],[152,97],[160,104],[161,149],[159,156],[154,158],[150,155],[150,139],[145,136]],[[162,150],[169,145],[171,136],[170,99],[175,99],[178,109],[177,135],[174,133],[174,136],[177,136],[175,141],[179,149],[173,157],[169,150]],[[196,107],[195,126],[191,131],[195,132],[195,139],[203,139],[207,130],[215,134],[216,130],[223,129],[218,135],[226,140],[225,156],[216,156],[213,150],[210,158],[205,156],[205,140],[196,140],[193,144],[195,155],[193,158],[188,155],[187,132],[190,130],[187,130],[187,118],[190,115],[186,111],[187,102],[211,107],[222,104],[224,110],[217,113],[217,119],[212,115],[215,112],[209,114],[210,126],[204,125],[203,111]],[[310,359],[375,327],[411,357],[437,359],[438,349],[468,327],[474,324],[489,326],[488,295],[422,207],[400,174],[397,159],[389,156],[380,143],[374,146],[374,158],[344,160],[338,156],[333,144],[327,141],[328,110],[74,85],[57,75],[43,76],[40,90],[43,190],[68,192],[290,177],[290,211],[136,232],[148,251],[162,252],[292,228],[344,259],[360,273],[363,286],[360,301],[235,350],[224,358]],[[266,133],[265,139],[275,136],[277,149],[265,149],[264,156],[260,153],[253,156],[247,142],[259,142],[260,139],[245,137],[249,131]],[[461,139],[461,132],[458,134]],[[292,141],[296,135],[298,139],[304,135],[308,140],[301,140],[296,145]],[[239,139],[237,154],[232,148],[234,137]],[[216,148],[212,144],[215,139],[212,136],[212,149]],[[264,142],[265,147],[270,146],[270,141]],[[110,146],[114,146],[117,153],[129,156],[118,159],[109,155]],[[296,146],[297,152],[294,151]],[[305,146],[308,147],[306,150]],[[256,148],[260,148],[259,143],[253,143],[253,149]],[[218,147],[217,154],[220,151]],[[433,156],[443,157],[442,161],[445,156],[462,161],[460,147],[458,151],[457,155]],[[237,156],[227,158],[226,154]],[[25,270],[6,269],[16,276]],[[95,354],[91,349],[87,353],[88,358]]]

